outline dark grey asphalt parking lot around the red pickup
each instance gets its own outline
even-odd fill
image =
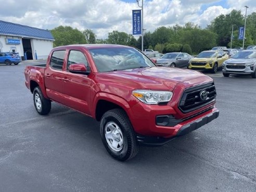
[[[53,103],[34,109],[26,65],[0,65],[0,191],[256,191],[256,80],[215,81],[220,117],[158,148],[113,160],[99,123]]]

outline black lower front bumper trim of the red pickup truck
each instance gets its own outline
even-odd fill
[[[171,140],[179,136],[186,135],[194,130],[197,130],[199,127],[211,122],[212,120],[219,117],[219,113],[220,113],[219,110],[214,109],[211,113],[208,113],[207,115],[199,119],[196,119],[194,121],[191,121],[187,124],[182,125],[180,129],[178,129],[178,131],[176,132],[176,135],[170,138],[145,136],[145,135],[137,134],[137,141],[140,145],[153,146],[153,147],[167,144],[168,142],[171,142]]]

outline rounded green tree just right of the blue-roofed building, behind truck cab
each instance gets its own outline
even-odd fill
[[[54,36],[55,41],[53,42],[54,47],[70,44],[85,44],[87,43],[84,39],[84,35],[78,29],[72,27],[60,25],[53,30],[50,30]]]

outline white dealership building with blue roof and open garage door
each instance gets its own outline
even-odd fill
[[[46,59],[53,48],[49,30],[0,20],[0,52],[14,52],[23,59]]]

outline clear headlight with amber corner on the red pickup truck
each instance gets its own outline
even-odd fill
[[[143,89],[134,90],[132,94],[144,104],[155,105],[170,101],[173,95],[173,93],[169,91],[152,91]]]

